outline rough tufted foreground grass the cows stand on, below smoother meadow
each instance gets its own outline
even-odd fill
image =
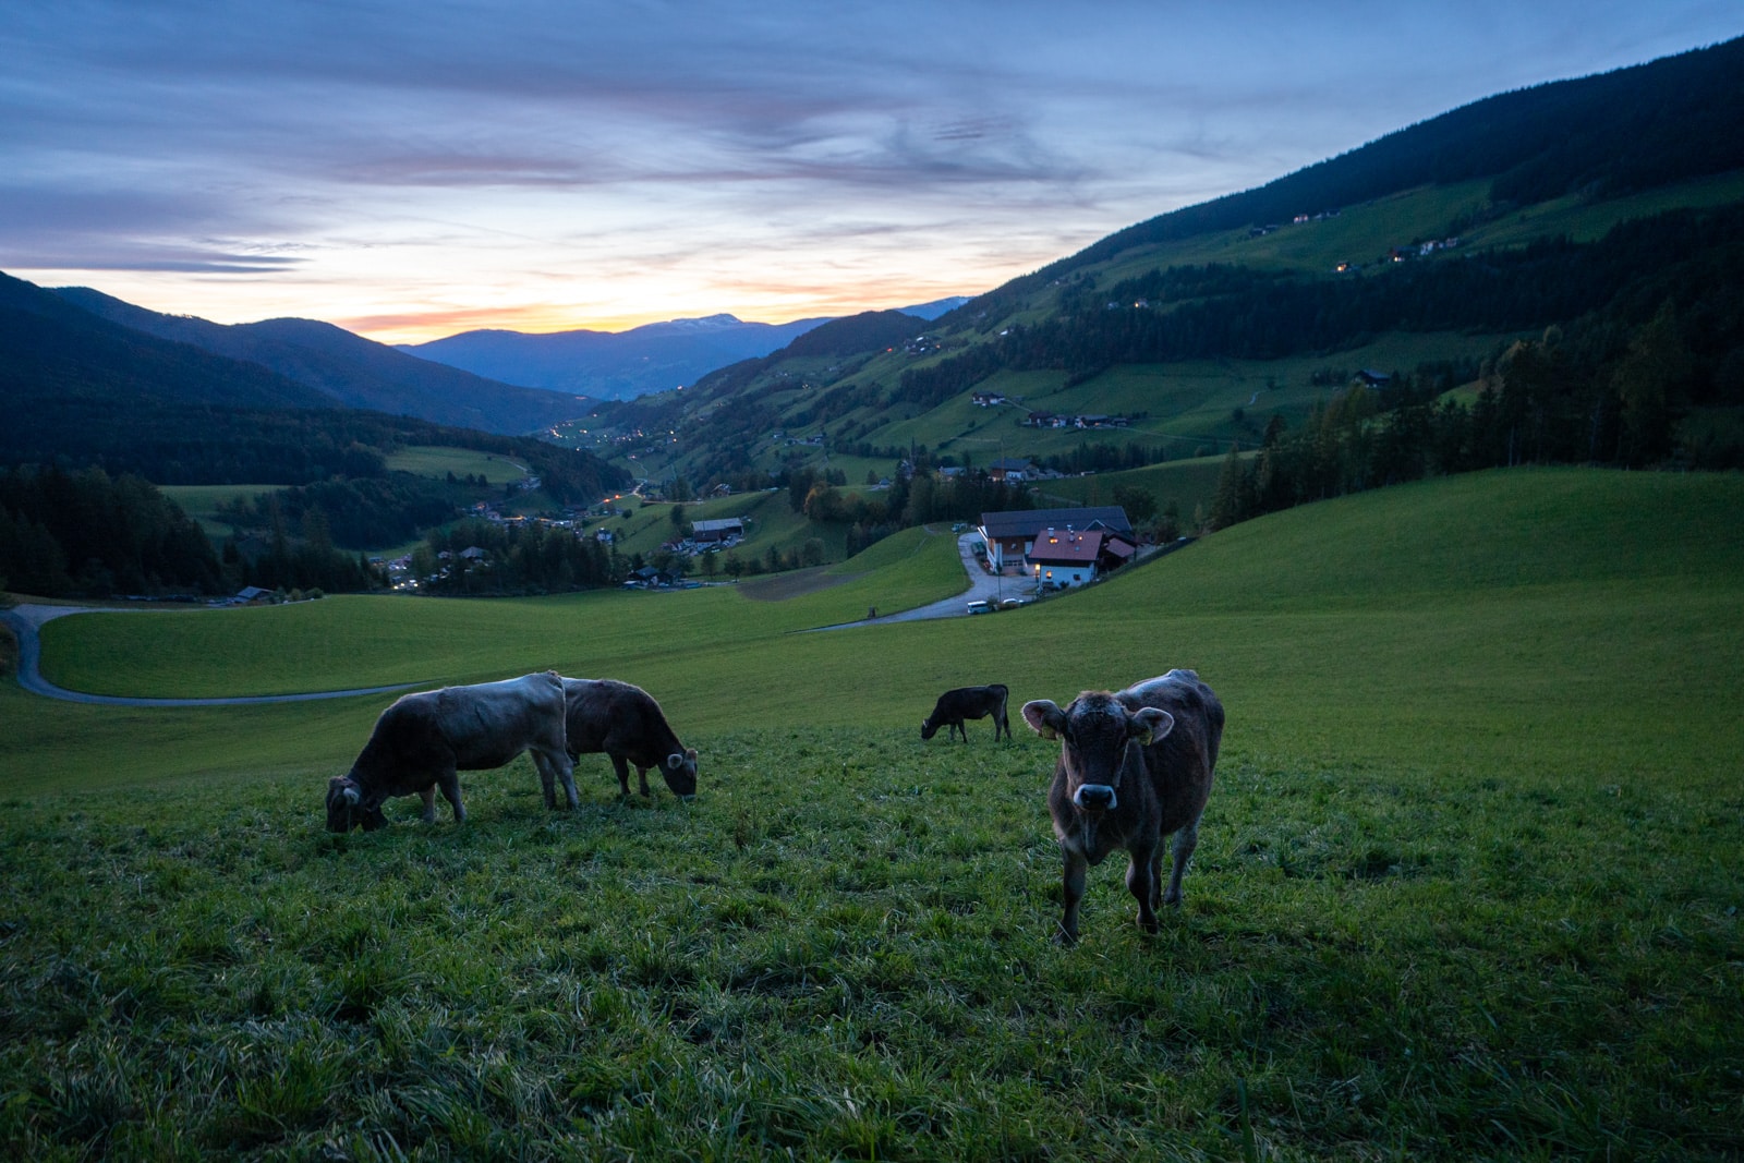
[[[1188,903],[1048,936],[1046,746],[701,741],[705,795],[317,832],[7,802],[17,1158],[1725,1158],[1739,788],[1226,767]],[[596,757],[595,757],[596,758]],[[600,771],[593,771],[600,767]]]

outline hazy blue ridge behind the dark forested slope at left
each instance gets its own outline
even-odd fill
[[[314,389],[324,406],[408,415],[506,436],[574,420],[593,406],[589,399],[499,384],[419,359],[331,323],[265,319],[221,324],[159,314],[84,286],[54,288],[52,293],[112,324],[277,371]]]

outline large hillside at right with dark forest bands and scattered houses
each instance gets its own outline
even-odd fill
[[[776,352],[610,408],[589,439],[633,450],[621,464],[637,474],[696,485],[827,459],[858,479],[919,446],[959,464],[1064,467],[1100,443],[1156,462],[1257,446],[1273,417],[1301,425],[1359,370],[1430,396],[1482,373],[1505,392],[1505,356],[1529,340],[1561,347],[1557,394],[1578,401],[1523,387],[1538,401],[1533,424],[1561,427],[1570,445],[1575,413],[1604,429],[1604,455],[1549,459],[1737,464],[1744,427],[1727,410],[1744,403],[1741,54],[1734,40],[1474,103],[1116,232],[916,324],[907,342],[881,337],[828,359]],[[1196,289],[1142,289],[1170,277]],[[1643,338],[1655,312],[1681,347],[1653,389],[1674,431],[1641,445],[1611,429],[1632,422],[1622,368],[1631,345],[1657,342]],[[978,408],[971,391],[1010,403]],[[1470,410],[1477,396],[1451,399]],[[1024,427],[1029,411],[1130,424]],[[626,445],[637,431],[666,436]]]

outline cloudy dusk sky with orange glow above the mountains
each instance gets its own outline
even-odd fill
[[[973,295],[1737,0],[5,0],[0,270],[382,342]]]

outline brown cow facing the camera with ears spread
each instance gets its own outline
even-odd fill
[[[1156,931],[1156,908],[1181,903],[1181,874],[1198,844],[1223,743],[1223,703],[1189,670],[1172,670],[1118,694],[1085,690],[1060,710],[1048,699],[1024,704],[1045,739],[1060,739],[1048,788],[1053,833],[1066,860],[1066,914],[1057,940],[1078,940],[1085,867],[1127,849],[1127,889],[1139,900],[1139,924]],[[1163,837],[1174,833],[1174,872],[1162,888]]]

